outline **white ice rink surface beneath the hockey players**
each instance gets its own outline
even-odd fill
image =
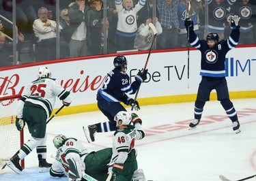
[[[194,103],[172,103],[141,106],[136,112],[143,120],[146,137],[135,142],[139,168],[147,180],[217,181],[219,175],[239,180],[256,174],[256,99],[233,99],[241,125],[236,134],[232,123],[218,101],[205,104],[197,129],[188,130],[193,120]],[[65,108],[64,108],[65,109]],[[68,109],[68,108],[66,108]],[[128,108],[130,111],[130,108]],[[56,149],[56,134],[76,137],[90,151],[112,146],[111,133],[96,133],[96,142],[86,141],[82,127],[106,121],[101,112],[57,116],[47,125],[48,162]],[[25,127],[25,142],[29,139]],[[25,169],[18,175],[5,169],[0,180],[68,180],[38,173],[35,150],[25,158]],[[250,180],[256,180],[252,178]]]

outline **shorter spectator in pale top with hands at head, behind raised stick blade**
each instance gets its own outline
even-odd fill
[[[145,23],[141,24],[138,29],[138,34],[136,35],[134,41],[134,48],[138,50],[150,50],[152,41],[154,40],[154,32],[150,29],[150,22],[152,22],[151,17],[147,17]],[[157,35],[162,33],[162,27],[158,18],[155,18]]]

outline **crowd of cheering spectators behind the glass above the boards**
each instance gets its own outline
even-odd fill
[[[12,20],[12,1],[0,0],[0,3],[1,15]],[[184,20],[188,17],[193,19],[195,33],[200,38],[216,32],[220,39],[225,39],[233,14],[241,17],[240,44],[255,44],[256,3],[253,0],[61,0],[59,11],[56,11],[56,0],[16,0],[18,32],[35,44],[35,54],[41,53],[35,61],[56,59],[56,41],[59,41],[60,58],[149,50],[150,46],[140,48],[138,44],[138,41],[150,43],[149,22],[159,31],[155,48],[186,47]],[[8,26],[6,24],[6,30]],[[57,26],[59,39],[56,39]],[[12,36],[10,32],[3,33]]]

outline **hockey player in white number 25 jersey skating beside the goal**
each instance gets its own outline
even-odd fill
[[[19,161],[35,148],[38,153],[39,171],[50,169],[51,164],[46,162],[46,120],[53,112],[56,97],[66,106],[71,103],[70,92],[61,87],[57,80],[51,78],[51,71],[47,67],[39,67],[38,79],[25,86],[23,95],[18,101],[16,127],[21,131],[27,123],[31,138],[10,161],[6,162],[6,165],[17,174],[23,170]]]

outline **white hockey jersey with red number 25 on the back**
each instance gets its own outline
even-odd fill
[[[25,86],[23,96],[18,101],[18,118],[23,117],[23,107],[25,101],[41,105],[46,111],[47,118],[53,112],[55,106],[55,99],[59,97],[60,100],[71,103],[70,92],[66,91],[59,82],[53,78],[41,78],[35,80]]]

